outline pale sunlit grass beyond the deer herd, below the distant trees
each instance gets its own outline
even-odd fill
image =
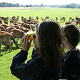
[[[21,16],[29,19],[29,16],[34,19],[36,16],[39,16],[39,22],[41,22],[41,17],[45,18],[49,16],[50,19],[54,19],[56,17],[59,18],[58,22],[61,25],[64,25],[63,22],[60,22],[60,17],[65,17],[66,21],[69,21],[69,17],[75,18],[77,16],[80,17],[80,9],[66,9],[66,8],[23,8],[23,9],[2,9],[0,10],[0,16],[9,17],[19,16],[19,21],[21,21]]]

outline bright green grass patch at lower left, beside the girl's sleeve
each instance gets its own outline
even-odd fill
[[[10,65],[12,57],[18,53],[20,49],[12,51],[11,53],[5,54],[0,57],[0,79],[1,80],[18,80],[10,72]]]

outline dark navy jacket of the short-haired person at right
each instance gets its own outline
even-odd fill
[[[62,60],[61,79],[78,80],[80,75],[79,50],[68,51]]]

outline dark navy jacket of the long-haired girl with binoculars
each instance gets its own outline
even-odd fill
[[[59,80],[59,69],[44,69],[44,63],[33,50],[32,59],[25,63],[28,53],[21,50],[13,57],[11,73],[20,80]]]

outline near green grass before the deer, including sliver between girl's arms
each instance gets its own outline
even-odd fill
[[[20,44],[20,41],[18,42],[18,45],[19,44]],[[19,80],[18,78],[16,78],[15,76],[11,74],[10,66],[11,66],[13,57],[18,52],[21,51],[21,47],[19,49],[16,49],[15,45],[13,45],[12,48],[13,50],[11,52],[7,50],[6,53],[4,51],[0,54],[0,80]],[[32,49],[33,49],[33,42],[31,43],[31,47],[29,49],[29,55],[28,55],[27,60],[31,59]]]

